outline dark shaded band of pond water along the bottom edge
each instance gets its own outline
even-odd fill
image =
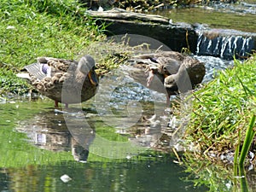
[[[60,177],[72,178],[63,183]],[[205,191],[192,183],[181,183],[186,177],[180,166],[167,160],[119,162],[73,162],[53,166],[26,166],[2,169],[1,191]]]

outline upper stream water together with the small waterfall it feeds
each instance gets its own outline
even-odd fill
[[[246,58],[255,49],[255,2],[212,3],[189,9],[164,9],[155,14],[169,18],[172,24],[185,22],[195,27],[199,36],[196,55],[232,60],[234,56]]]

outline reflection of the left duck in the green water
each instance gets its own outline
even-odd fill
[[[89,156],[90,143],[95,139],[95,127],[91,122],[90,127],[79,125],[77,118],[75,122],[70,129],[67,128],[62,114],[38,113],[33,119],[21,121],[16,129],[25,132],[38,148],[71,151],[74,160],[85,163]]]

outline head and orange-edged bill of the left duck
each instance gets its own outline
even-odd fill
[[[90,55],[84,55],[79,60],[78,70],[88,76],[90,83],[97,86],[98,80],[95,73],[95,61]]]

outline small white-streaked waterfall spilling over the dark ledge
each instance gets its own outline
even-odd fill
[[[247,57],[255,49],[256,34],[245,34],[234,30],[199,32],[196,54],[218,56],[225,60],[232,60],[234,55],[236,58]]]

